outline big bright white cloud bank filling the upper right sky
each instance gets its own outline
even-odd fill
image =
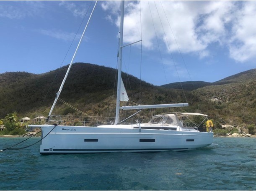
[[[106,1],[101,6],[119,26],[120,3]],[[141,9],[142,44],[147,49],[156,49],[159,43],[166,52],[180,50],[207,58],[209,47],[219,45],[239,62],[256,57],[255,1],[133,1],[125,6],[124,43],[140,40]]]

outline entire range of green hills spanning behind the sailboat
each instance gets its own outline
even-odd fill
[[[16,112],[19,118],[47,116],[68,66],[44,74],[25,72],[0,74],[0,118]],[[147,121],[152,114],[163,112],[205,113],[216,123],[256,124],[256,69],[230,76],[215,83],[183,83],[185,95],[173,86],[154,86],[122,73],[131,101],[140,104],[188,102],[189,107],[145,110],[138,116]],[[60,98],[92,116],[114,116],[116,70],[104,66],[75,63],[67,77]],[[166,88],[167,87],[167,88]],[[171,87],[171,88],[168,88]],[[176,88],[176,89],[174,89]],[[129,104],[131,103],[122,103]],[[131,111],[133,112],[133,111]],[[53,114],[80,115],[57,102]],[[129,116],[122,112],[121,116]]]

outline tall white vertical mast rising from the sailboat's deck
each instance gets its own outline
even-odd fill
[[[118,57],[115,125],[117,123],[119,123],[120,94],[121,94],[121,80],[122,80],[121,74],[122,74],[123,30],[124,30],[124,1],[122,0],[121,1],[121,15],[120,15],[120,41],[119,41],[119,57]]]

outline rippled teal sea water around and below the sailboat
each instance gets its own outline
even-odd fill
[[[0,138],[0,150],[24,139]],[[213,142],[185,152],[47,156],[36,143],[0,152],[0,190],[256,190],[256,138]]]

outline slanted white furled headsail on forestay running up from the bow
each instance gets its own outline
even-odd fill
[[[76,48],[76,50],[75,50],[75,53],[74,53],[73,58],[72,58],[72,60],[71,60],[71,62],[70,62],[70,65],[69,65],[69,67],[67,68],[66,75],[65,75],[64,79],[62,80],[62,83],[61,83],[61,85],[60,85],[60,87],[59,87],[59,91],[56,93],[55,100],[54,100],[54,102],[53,102],[53,104],[52,104],[52,108],[51,108],[51,110],[50,110],[50,112],[49,112],[49,115],[48,115],[48,117],[47,117],[47,121],[49,121],[49,118],[50,118],[50,116],[52,115],[52,111],[53,111],[53,109],[54,109],[54,106],[55,106],[55,104],[56,104],[58,98],[59,98],[59,94],[60,94],[61,91],[62,91],[63,85],[64,85],[64,83],[65,83],[65,81],[66,81],[66,79],[67,79],[67,75],[68,75],[68,73],[69,73],[69,71],[70,71],[70,68],[71,68],[71,66],[72,66],[72,64],[73,64],[73,60],[75,59],[76,52],[77,52],[77,50],[78,50],[78,48],[79,48],[79,46],[80,46],[80,43],[81,43],[81,41],[82,41],[82,39],[83,39],[83,35],[85,34],[85,30],[86,30],[86,28],[87,28],[87,26],[88,26],[88,24],[89,24],[89,21],[91,20],[91,16],[93,15],[93,11],[94,11],[94,9],[95,9],[95,7],[96,7],[97,2],[98,2],[98,1],[96,1],[95,5],[94,5],[94,7],[93,7],[93,10],[92,10],[92,12],[91,12],[91,15],[90,15],[90,17],[89,17],[89,19],[88,19],[88,22],[87,22],[87,24],[86,24],[86,26],[85,26],[85,29],[83,30],[83,34],[82,34],[82,36],[81,36],[81,38],[80,38],[80,41],[79,41],[78,46],[77,46],[77,48]]]

